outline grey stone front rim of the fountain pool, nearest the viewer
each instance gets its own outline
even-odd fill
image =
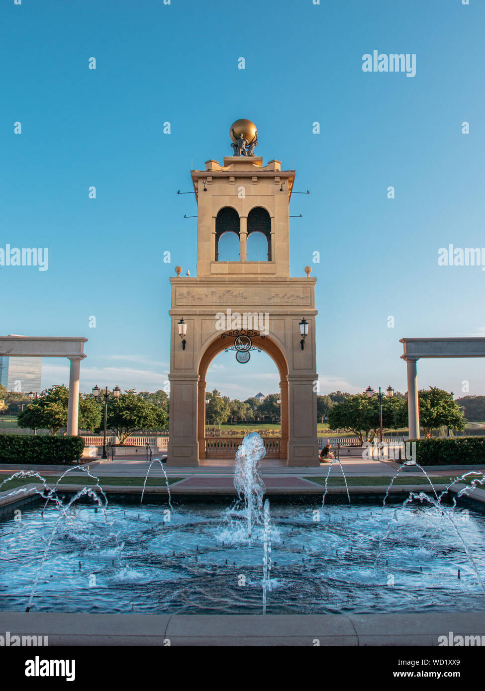
[[[263,616],[3,611],[0,632],[10,632],[10,638],[48,636],[49,646],[437,647],[453,645],[454,636],[484,640],[485,612]]]

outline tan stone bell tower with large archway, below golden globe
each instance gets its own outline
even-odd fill
[[[191,175],[199,207],[197,275],[170,278],[167,463],[196,466],[205,458],[205,374],[212,359],[233,345],[241,332],[230,323],[225,330],[217,328],[217,315],[230,310],[232,315],[248,317],[242,325],[250,331],[245,328],[243,333],[273,358],[280,372],[280,457],[289,466],[318,465],[316,279],[290,276],[289,201],[295,171],[282,171],[278,160],[263,166],[257,156],[233,155],[226,156],[223,165],[208,160],[205,170],[193,170]],[[239,240],[237,261],[222,258],[221,243],[227,233]],[[253,233],[260,234],[266,248],[260,261],[247,259]],[[253,328],[254,315],[260,313],[268,315],[266,334]],[[303,343],[302,318],[309,323]],[[179,336],[181,319],[186,323],[186,343]],[[235,361],[234,366],[245,365]]]

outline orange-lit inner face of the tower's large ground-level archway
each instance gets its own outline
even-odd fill
[[[280,347],[272,341],[270,338],[262,338],[259,335],[251,336],[253,345],[256,348],[261,348],[263,352],[269,355],[277,367],[277,372],[279,375],[279,385],[280,385],[280,409],[281,409],[281,438],[279,442],[278,455],[282,459],[288,457],[288,437],[289,437],[289,384],[288,384],[288,364],[286,363],[286,358]],[[206,348],[201,356],[199,362],[199,395],[197,399],[197,437],[199,441],[199,458],[205,458],[205,389],[206,389],[206,377],[208,368],[212,360],[225,348],[232,345],[233,339],[229,336],[225,339],[221,339],[219,335],[210,345]],[[245,365],[237,365],[236,367],[245,367]],[[274,388],[274,385],[273,385]],[[251,426],[257,426],[257,423],[251,424]],[[271,454],[267,454],[271,457]],[[232,457],[232,452],[230,453]],[[274,457],[274,456],[273,456]]]

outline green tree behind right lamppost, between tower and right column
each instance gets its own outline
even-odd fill
[[[402,405],[401,399],[383,397],[383,430],[394,428]],[[365,393],[347,395],[329,410],[329,425],[332,429],[343,428],[354,433],[361,445],[372,442],[380,429],[378,398],[367,398]]]

